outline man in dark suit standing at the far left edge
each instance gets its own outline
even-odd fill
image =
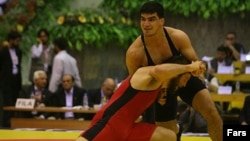
[[[19,48],[21,35],[17,31],[11,31],[7,40],[8,47],[0,50],[0,94],[3,97],[3,106],[14,106],[22,85],[22,51]],[[5,112],[3,126],[10,126],[10,118],[11,113]]]

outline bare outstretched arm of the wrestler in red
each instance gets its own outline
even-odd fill
[[[204,64],[195,61],[192,64],[181,65],[174,63],[159,64],[139,68],[131,78],[131,85],[136,89],[145,89],[150,86],[152,89],[158,88],[166,80],[170,80],[180,74],[191,72],[200,75]]]

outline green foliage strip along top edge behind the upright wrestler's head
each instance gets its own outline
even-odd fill
[[[144,2],[149,0],[104,0],[102,7],[112,9],[116,12],[126,13],[134,17]],[[155,0],[160,2],[166,9],[166,12],[184,15],[189,17],[197,15],[198,17],[225,18],[230,14],[238,14],[245,18],[250,11],[250,0]]]

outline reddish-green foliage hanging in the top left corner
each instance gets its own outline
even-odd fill
[[[7,5],[7,12],[0,17],[0,41],[5,40],[8,32],[17,30],[22,33],[21,47],[29,53],[36,42],[37,31],[47,28],[52,31],[56,25],[58,11],[67,11],[68,0],[13,0]]]

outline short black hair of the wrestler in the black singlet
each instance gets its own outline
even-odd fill
[[[155,1],[149,1],[142,5],[140,14],[147,13],[147,14],[153,14],[157,13],[159,18],[164,18],[164,8],[163,6]]]

